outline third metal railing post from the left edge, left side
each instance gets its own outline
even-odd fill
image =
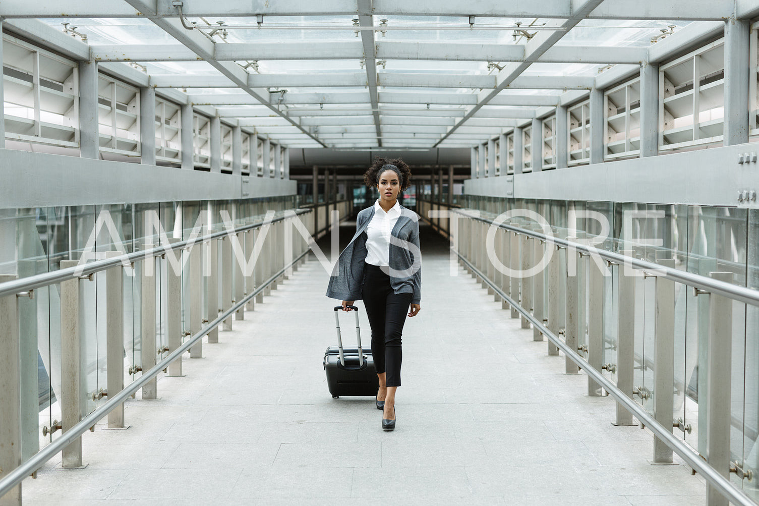
[[[120,251],[107,251],[106,258],[118,257]],[[106,270],[106,374],[108,393],[124,390],[124,267],[118,264]],[[108,428],[124,428],[124,403],[108,413]]]

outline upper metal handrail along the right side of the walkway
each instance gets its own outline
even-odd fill
[[[474,220],[482,221],[483,223],[493,224],[493,220],[489,220],[483,217],[471,216],[465,211],[453,211],[455,213],[464,214]],[[534,232],[533,230],[524,229],[518,226],[507,225],[501,223],[499,228],[507,229],[512,232],[524,234],[526,236],[534,237],[545,242],[552,242],[554,245],[561,246],[562,248],[573,249],[579,251],[584,255],[598,255],[604,260],[611,261],[616,264],[630,264],[632,267],[638,270],[646,272],[657,271],[657,276],[663,277],[667,280],[676,281],[684,285],[693,286],[694,288],[704,289],[708,293],[715,293],[727,297],[728,299],[738,300],[745,302],[746,304],[759,306],[759,290],[748,288],[747,286],[738,286],[725,281],[713,280],[710,277],[701,276],[701,274],[694,274],[685,270],[677,270],[672,267],[664,267],[663,265],[656,264],[650,261],[640,260],[638,258],[628,257],[626,255],[620,255],[613,251],[606,251],[605,249],[595,248],[591,245],[585,245],[580,242],[570,242],[565,239],[559,239],[558,237],[549,237],[540,232]]]

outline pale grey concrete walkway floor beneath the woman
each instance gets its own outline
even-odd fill
[[[343,242],[352,233],[343,226]],[[346,237],[347,236],[347,237]],[[308,261],[159,400],[129,400],[125,431],[83,436],[84,470],[51,460],[25,504],[704,504],[685,465],[653,466],[653,436],[615,427],[427,227],[422,311],[404,332],[397,429],[373,399],[332,399],[328,274]],[[360,313],[364,343],[370,329]],[[341,315],[345,342],[353,315]],[[185,356],[187,357],[187,355]]]

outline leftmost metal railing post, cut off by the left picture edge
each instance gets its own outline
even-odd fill
[[[0,275],[0,283],[13,281],[16,276]],[[0,479],[8,476],[21,464],[20,427],[20,334],[18,299],[11,295],[0,297]],[[0,497],[2,506],[21,506],[21,484]]]

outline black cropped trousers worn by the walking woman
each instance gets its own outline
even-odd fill
[[[372,327],[372,356],[377,374],[386,373],[388,387],[401,386],[401,334],[411,293],[393,293],[390,277],[380,267],[365,266],[364,308]]]

